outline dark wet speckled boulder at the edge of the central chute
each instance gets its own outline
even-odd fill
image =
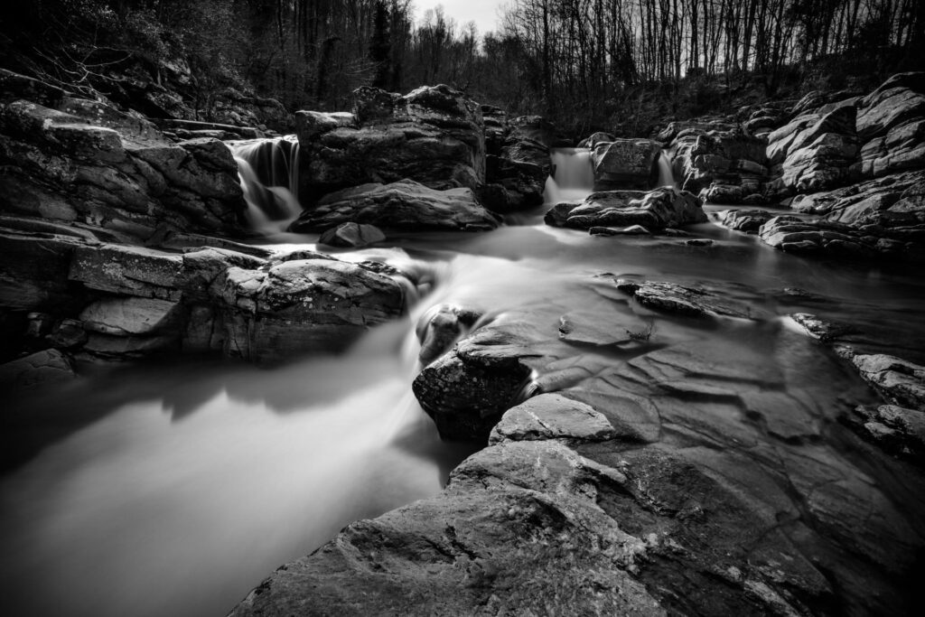
[[[522,362],[532,355],[529,346],[510,327],[482,327],[415,377],[414,396],[441,437],[487,439],[529,381],[531,369]]]

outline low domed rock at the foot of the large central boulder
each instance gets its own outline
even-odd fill
[[[296,232],[322,231],[342,223],[402,231],[486,231],[498,219],[478,204],[467,188],[435,191],[412,179],[366,184],[326,195],[291,225]]]

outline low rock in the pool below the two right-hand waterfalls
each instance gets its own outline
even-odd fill
[[[655,191],[603,191],[582,204],[556,204],[545,217],[554,227],[590,229],[641,225],[649,231],[704,223],[700,200],[686,191],[662,187]]]

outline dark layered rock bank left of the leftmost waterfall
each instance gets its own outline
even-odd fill
[[[238,167],[221,142],[168,142],[142,117],[8,71],[0,81],[0,206],[7,213],[142,239],[164,228],[238,228]]]

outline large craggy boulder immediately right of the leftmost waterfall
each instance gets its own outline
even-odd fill
[[[485,181],[485,127],[478,105],[449,86],[404,96],[364,87],[351,114],[296,113],[300,193],[413,179],[431,189]]]

